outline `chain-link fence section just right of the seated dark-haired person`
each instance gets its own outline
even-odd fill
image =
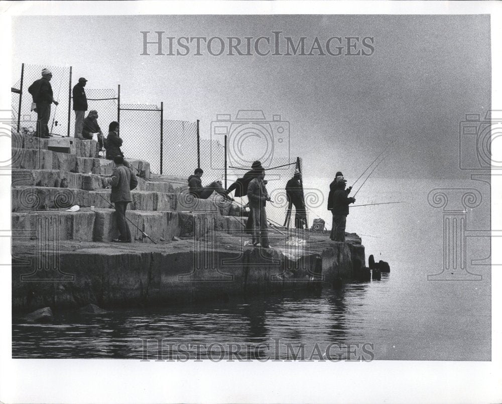
[[[154,174],[162,174],[161,137],[163,130],[161,108],[152,104],[120,104],[120,149],[126,159],[145,160]]]

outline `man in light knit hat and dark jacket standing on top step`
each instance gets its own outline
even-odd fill
[[[37,106],[37,133],[38,138],[48,139],[51,137],[49,133],[49,119],[51,116],[51,104],[57,105],[52,92],[51,81],[52,72],[49,69],[42,70],[42,78],[35,80],[28,87],[28,92],[33,97],[33,102]]]

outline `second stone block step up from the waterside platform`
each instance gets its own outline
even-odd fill
[[[49,209],[63,209],[73,205],[94,206],[96,208],[108,208],[107,201],[110,200],[111,190],[87,191],[77,188],[55,188],[55,187],[26,187],[18,186],[12,188],[12,211],[32,211]],[[176,211],[177,195],[162,192],[131,191],[133,201],[128,205],[128,209],[146,211]],[[104,199],[103,199],[104,198]],[[215,211],[216,207],[208,201],[197,204],[202,211]]]

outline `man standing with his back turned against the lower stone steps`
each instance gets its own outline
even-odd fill
[[[136,188],[138,180],[131,172],[131,169],[123,165],[124,159],[122,156],[116,156],[113,162],[116,166],[111,176],[110,201],[115,205],[120,236],[112,241],[131,243],[133,240],[131,238],[131,230],[126,221],[126,211],[128,203],[132,202],[131,190]]]

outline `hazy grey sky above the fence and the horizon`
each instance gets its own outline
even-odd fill
[[[241,39],[282,31],[307,44],[369,36],[374,53],[193,56],[192,44],[188,56],[155,56],[155,46],[141,56],[141,31]],[[482,15],[17,17],[12,82],[22,62],[72,65],[88,88],[121,84],[122,102],[164,101],[166,119],[200,119],[204,137],[218,113],[280,114],[290,122],[291,155],[311,174],[357,177],[396,141],[375,177],[465,178],[459,122],[489,109],[489,43]]]

